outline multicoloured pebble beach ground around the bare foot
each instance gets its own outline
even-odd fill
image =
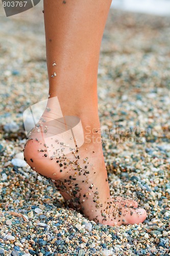
[[[99,114],[111,194],[148,212],[110,227],[68,208],[23,161],[22,113],[48,95],[42,8],[0,29],[0,255],[170,255],[170,18],[111,10]]]

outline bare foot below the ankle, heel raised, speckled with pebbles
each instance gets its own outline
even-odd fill
[[[143,222],[147,212],[137,208],[136,201],[110,197],[98,131],[90,129],[94,131],[93,139],[89,140],[90,132],[80,148],[76,144],[70,147],[68,133],[64,140],[61,132],[63,125],[53,114],[46,112],[41,117],[25,147],[27,163],[39,174],[51,178],[67,203],[89,220],[111,226]]]

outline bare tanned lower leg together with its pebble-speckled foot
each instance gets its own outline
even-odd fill
[[[137,207],[137,203],[132,200],[110,198],[102,145],[99,143],[97,74],[110,4],[110,0],[98,0],[98,3],[92,0],[66,3],[44,0],[52,104],[49,101],[51,110],[45,111],[43,118],[55,120],[58,115],[55,97],[58,97],[64,116],[81,119],[85,142],[75,152],[63,154],[59,160],[51,160],[44,154],[46,145],[36,130],[32,134],[33,140],[25,148],[25,157],[37,172],[52,178],[64,198],[71,200],[90,220],[109,225],[133,224],[142,222],[146,213],[141,210],[137,214],[137,210],[132,208]],[[53,128],[56,125],[56,121],[55,124],[53,122]],[[49,143],[48,148],[51,147],[54,146]]]

